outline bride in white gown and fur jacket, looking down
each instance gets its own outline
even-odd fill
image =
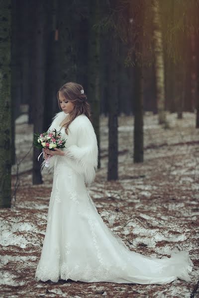
[[[44,149],[54,177],[35,279],[157,285],[178,278],[190,281],[194,264],[189,252],[171,251],[171,258],[147,257],[130,251],[105,225],[86,187],[95,179],[98,144],[83,86],[68,82],[57,97],[62,112],[49,130],[61,130],[67,148]]]

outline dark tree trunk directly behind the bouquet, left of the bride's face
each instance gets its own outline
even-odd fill
[[[46,11],[45,0],[35,1],[35,36],[34,36],[34,68],[33,74],[33,90],[32,98],[34,99],[33,106],[33,124],[34,133],[43,132],[44,118],[44,94],[45,94],[45,53],[46,53]],[[40,172],[41,161],[37,161],[39,150],[33,149],[33,184],[41,184],[42,177]],[[41,158],[40,158],[41,160]]]

